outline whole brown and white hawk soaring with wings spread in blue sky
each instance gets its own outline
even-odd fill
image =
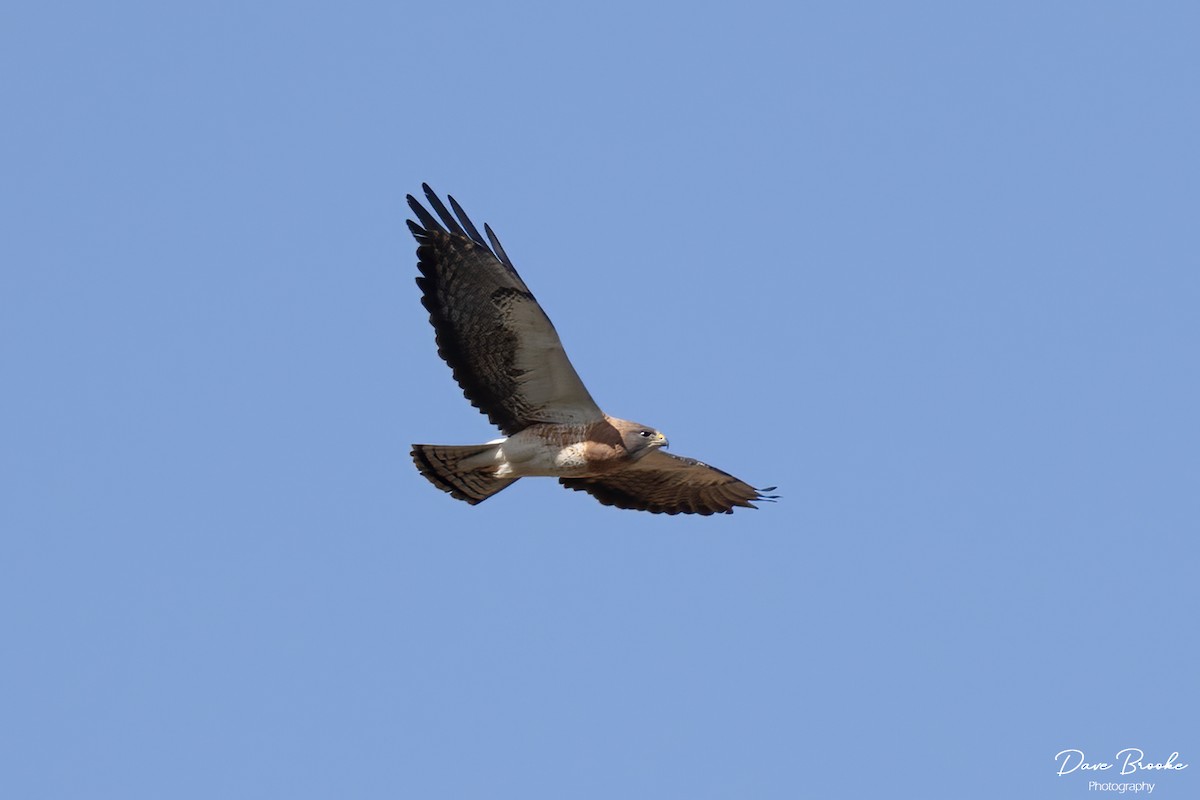
[[[463,395],[504,439],[484,445],[413,445],[421,475],[451,497],[482,503],[521,477],[550,476],[605,505],[653,513],[732,513],[774,500],[727,473],[662,451],[654,428],[600,410],[558,333],[487,225],[487,239],[455,199],[446,209],[421,185],[433,217],[412,194],[421,303],[438,355]]]

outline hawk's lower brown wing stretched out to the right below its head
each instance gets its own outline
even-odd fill
[[[760,491],[715,467],[661,450],[607,475],[558,482],[605,505],[654,513],[733,513],[734,506],[754,509],[751,500],[776,499],[763,494],[774,486]]]

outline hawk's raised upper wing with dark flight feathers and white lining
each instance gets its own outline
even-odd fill
[[[602,420],[550,318],[492,229],[484,225],[485,241],[454,198],[451,215],[427,185],[421,188],[440,222],[408,196],[420,221],[408,221],[419,245],[416,285],[437,332],[438,354],[462,393],[509,435],[534,422]]]

